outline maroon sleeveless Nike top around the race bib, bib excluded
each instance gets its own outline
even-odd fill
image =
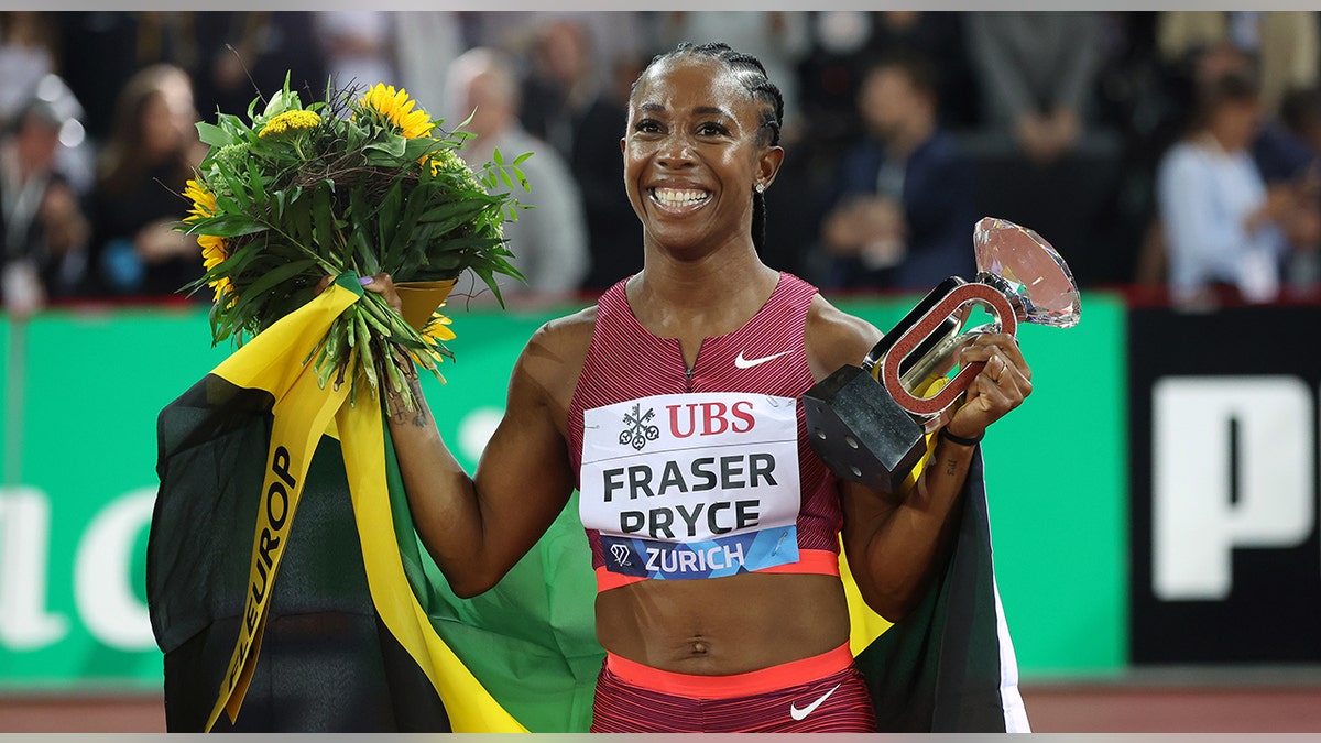
[[[766,304],[737,331],[705,338],[691,374],[678,338],[659,338],[633,316],[626,280],[597,304],[592,344],[569,405],[569,457],[581,489],[584,411],[651,395],[684,393],[754,393],[798,399],[815,379],[807,366],[803,337],[816,288],[782,272]],[[750,364],[749,364],[750,362]],[[797,518],[798,561],[764,572],[839,575],[839,531],[843,526],[838,481],[807,443],[803,407],[797,406],[801,505]],[[587,529],[600,591],[645,580],[605,567],[601,534]]]

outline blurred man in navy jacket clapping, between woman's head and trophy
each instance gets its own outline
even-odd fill
[[[827,286],[925,291],[971,278],[975,167],[937,123],[935,85],[931,62],[913,53],[864,78],[868,135],[841,160],[822,225]]]

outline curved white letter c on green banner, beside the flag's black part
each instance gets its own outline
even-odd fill
[[[118,650],[156,646],[147,606],[133,594],[133,542],[152,521],[156,488],[116,498],[87,526],[74,561],[74,602],[92,637]]]

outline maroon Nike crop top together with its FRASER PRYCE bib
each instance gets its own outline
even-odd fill
[[[781,274],[746,324],[703,341],[691,374],[679,341],[633,316],[625,282],[601,296],[568,422],[598,591],[839,574],[838,483],[798,403],[815,382],[803,345],[815,295]]]

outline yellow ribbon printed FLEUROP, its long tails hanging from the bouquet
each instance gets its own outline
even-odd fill
[[[231,723],[238,719],[308,465],[321,438],[332,436],[343,453],[373,604],[440,694],[454,732],[527,732],[445,645],[408,584],[390,509],[380,409],[345,405],[351,385],[322,389],[314,368],[303,364],[334,319],[361,297],[347,288],[357,278],[346,276],[211,372],[235,386],[266,390],[276,402],[239,637],[205,730],[214,727],[222,710]],[[404,319],[415,328],[424,325],[453,286],[453,280],[403,284]]]

